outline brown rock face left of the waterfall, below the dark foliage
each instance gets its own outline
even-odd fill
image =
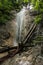
[[[15,38],[15,23],[8,22],[6,25],[0,26],[0,45],[13,45],[13,39]]]

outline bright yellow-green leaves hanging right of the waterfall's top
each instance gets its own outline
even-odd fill
[[[43,20],[43,1],[42,0],[32,0],[31,3],[34,5],[34,10],[39,12],[40,14],[37,15],[34,19],[36,23],[40,23]]]

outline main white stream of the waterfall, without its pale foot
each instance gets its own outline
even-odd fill
[[[26,10],[26,8],[23,7],[23,9],[19,13],[17,13],[17,16],[16,16],[16,23],[17,23],[16,41],[17,42],[21,42],[21,40],[22,40],[21,32],[23,29],[23,18],[25,15],[25,10]]]

